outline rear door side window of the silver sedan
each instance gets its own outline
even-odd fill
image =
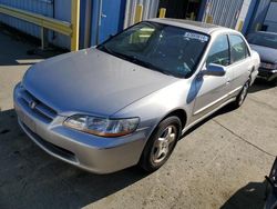
[[[230,60],[232,62],[236,62],[243,60],[248,57],[249,52],[245,41],[242,37],[236,34],[229,36],[229,43],[230,43]]]

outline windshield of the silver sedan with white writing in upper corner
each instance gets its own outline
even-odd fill
[[[98,49],[163,73],[188,78],[209,40],[207,34],[155,22],[141,22]]]

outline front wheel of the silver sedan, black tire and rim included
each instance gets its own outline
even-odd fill
[[[146,172],[161,168],[171,157],[179,137],[182,123],[175,117],[164,119],[146,142],[138,166]]]

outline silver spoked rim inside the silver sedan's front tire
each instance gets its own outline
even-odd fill
[[[151,158],[154,163],[163,161],[170,153],[173,142],[176,140],[177,130],[174,126],[168,126],[155,140],[152,148]]]

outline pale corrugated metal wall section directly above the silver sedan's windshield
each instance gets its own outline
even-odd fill
[[[135,8],[137,4],[143,6],[143,20],[156,18],[160,0],[127,0],[125,9],[124,28],[134,23]]]

